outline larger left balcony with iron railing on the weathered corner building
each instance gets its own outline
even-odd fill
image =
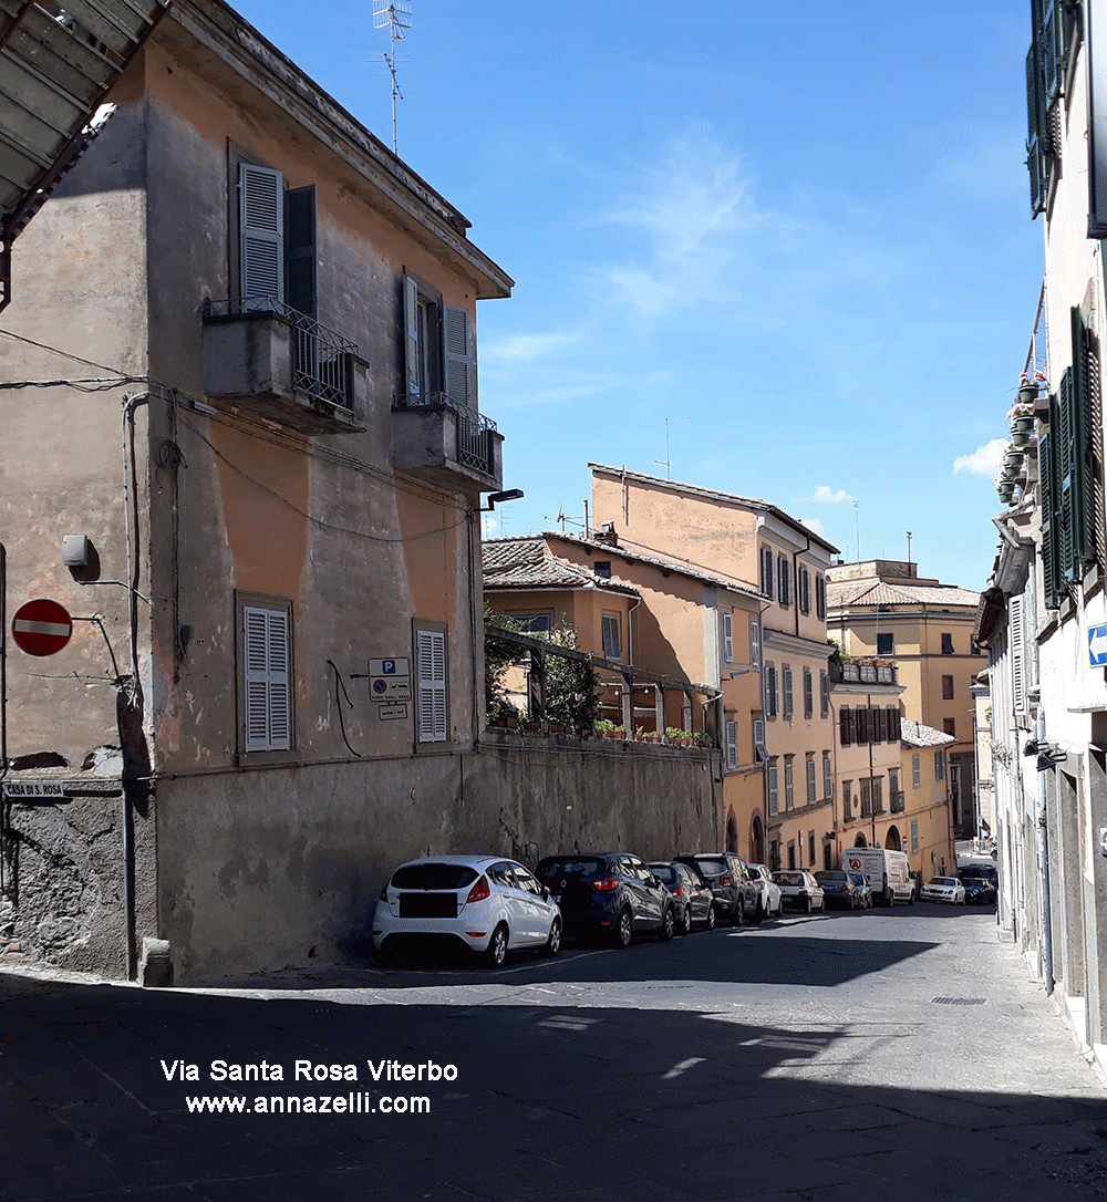
[[[275,297],[208,302],[204,394],[303,434],[363,430],[369,364],[357,346]]]

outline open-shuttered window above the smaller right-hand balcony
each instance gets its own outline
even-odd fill
[[[477,407],[469,310],[413,275],[404,275],[404,380],[409,399]]]

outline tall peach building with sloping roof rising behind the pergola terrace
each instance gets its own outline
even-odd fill
[[[749,727],[755,756],[766,757],[764,791],[750,810],[736,810],[727,846],[775,864],[802,844],[807,864],[814,838],[813,856],[822,857],[834,804],[826,571],[838,548],[768,501],[589,466],[595,520],[608,537],[764,599],[748,632],[748,662],[761,674]]]

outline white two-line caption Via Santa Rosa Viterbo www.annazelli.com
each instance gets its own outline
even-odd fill
[[[188,1095],[185,1106],[192,1114],[429,1114],[430,1096],[411,1094],[385,1094],[371,1085],[440,1085],[458,1079],[457,1065],[422,1060],[404,1064],[399,1060],[365,1060],[358,1064],[316,1064],[313,1060],[293,1060],[291,1065],[261,1060],[256,1064],[233,1064],[228,1060],[212,1060],[207,1066],[185,1060],[161,1060],[165,1079],[188,1084],[204,1081],[216,1085],[254,1085],[255,1090],[242,1094]],[[326,1094],[299,1091],[288,1093],[273,1088],[264,1093],[258,1088],[276,1084],[320,1085],[345,1084],[345,1091]],[[350,1087],[353,1088],[350,1088]]]

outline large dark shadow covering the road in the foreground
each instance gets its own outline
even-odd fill
[[[1107,1179],[1099,1100],[850,1085],[841,1077],[869,1045],[817,1023],[56,983],[5,996],[0,1197],[19,1202],[584,1202],[671,1190],[697,1202],[1088,1202]],[[306,1079],[297,1060],[313,1066]],[[214,1061],[268,1066],[270,1079],[213,1081]],[[389,1061],[433,1061],[444,1077],[388,1081]],[[197,1079],[180,1079],[188,1065]],[[329,1065],[357,1079],[329,1079]],[[190,1111],[201,1096],[244,1109]],[[325,1096],[331,1112],[319,1113]],[[382,1097],[403,1097],[407,1113],[381,1113]],[[412,1097],[429,1113],[411,1113]]]

